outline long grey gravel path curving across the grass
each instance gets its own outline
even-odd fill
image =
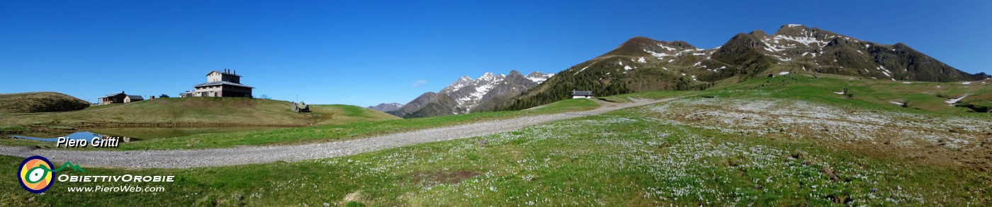
[[[59,163],[69,160],[72,163],[87,166],[138,168],[185,168],[265,163],[279,160],[296,161],[355,155],[415,144],[492,135],[515,131],[523,127],[541,123],[602,114],[617,109],[665,102],[673,99],[675,98],[662,100],[633,99],[633,103],[600,102],[601,107],[590,111],[478,122],[332,143],[166,151],[65,151],[36,149],[32,147],[0,147],[0,155],[22,157],[42,155],[51,159],[52,162]]]

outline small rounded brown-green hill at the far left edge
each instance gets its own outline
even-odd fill
[[[89,105],[82,99],[56,92],[0,94],[0,114],[76,111]]]

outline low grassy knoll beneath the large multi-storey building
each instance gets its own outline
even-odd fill
[[[328,125],[399,119],[375,110],[346,105],[311,105],[312,113],[290,111],[290,102],[237,97],[159,98],[94,106],[63,113],[4,114],[0,125]]]

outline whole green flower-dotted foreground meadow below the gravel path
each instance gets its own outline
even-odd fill
[[[17,206],[980,206],[992,202],[989,163],[974,162],[990,152],[987,141],[963,145],[925,141],[931,135],[955,133],[960,135],[954,138],[974,141],[989,129],[967,123],[988,123],[987,116],[943,118],[942,113],[914,110],[927,115],[915,116],[904,113],[912,109],[872,102],[831,106],[776,97],[791,93],[785,90],[724,92],[700,95],[719,97],[689,97],[515,132],[361,155],[186,169],[86,167],[87,175],[177,176],[176,182],[153,184],[165,187],[154,194],[72,193],[66,187],[93,184],[60,182],[45,195],[36,195],[21,190],[13,179],[2,179],[0,202]],[[682,92],[632,95],[675,93]],[[464,116],[478,115],[439,118]],[[819,116],[835,118],[802,125],[781,123]],[[429,119],[435,118],[412,120]],[[765,122],[776,125],[765,127]],[[806,129],[830,123],[850,125],[829,132]],[[925,136],[861,134],[877,138],[873,140],[847,134],[880,126],[893,128],[878,132]],[[961,126],[967,129],[957,129]],[[21,160],[0,156],[4,163],[0,170],[14,171]]]

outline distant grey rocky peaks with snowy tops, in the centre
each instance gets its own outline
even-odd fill
[[[513,97],[553,76],[538,71],[524,75],[517,70],[499,75],[486,72],[475,79],[461,76],[440,91],[424,93],[388,113],[413,118],[494,111],[509,107]]]

